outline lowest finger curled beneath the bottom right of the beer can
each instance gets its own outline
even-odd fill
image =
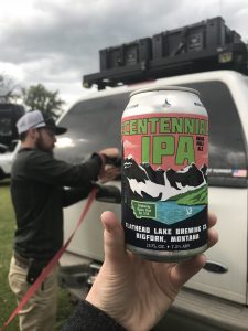
[[[171,282],[179,290],[191,277],[197,274],[205,265],[206,257],[203,254],[176,264],[171,269]]]

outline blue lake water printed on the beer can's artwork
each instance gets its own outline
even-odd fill
[[[155,202],[157,221],[171,225],[200,213],[205,205],[180,205],[174,201]]]

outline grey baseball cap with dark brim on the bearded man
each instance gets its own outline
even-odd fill
[[[62,135],[67,131],[66,128],[58,127],[52,117],[43,115],[40,110],[28,111],[17,122],[19,135],[37,128],[48,128],[53,130],[55,135]]]

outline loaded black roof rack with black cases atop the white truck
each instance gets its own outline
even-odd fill
[[[213,70],[248,74],[247,45],[220,17],[100,50],[99,58],[100,72],[84,75],[84,87],[104,89]]]

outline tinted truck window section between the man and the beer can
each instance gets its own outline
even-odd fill
[[[68,132],[57,138],[56,156],[77,163],[103,148],[120,149],[120,120],[128,100],[127,93],[75,104],[60,122]]]

